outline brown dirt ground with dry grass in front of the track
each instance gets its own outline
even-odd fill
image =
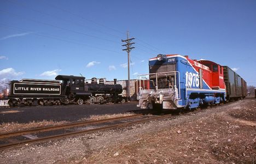
[[[256,99],[2,150],[0,163],[254,163]]]

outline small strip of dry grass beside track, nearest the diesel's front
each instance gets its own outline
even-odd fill
[[[80,119],[79,121],[84,121],[84,120],[91,120],[91,121],[97,121],[97,120],[104,120],[104,119],[113,119],[113,118],[120,118],[124,116],[131,116],[135,115],[135,113],[119,113],[119,114],[104,114],[104,115],[91,115],[90,118],[83,118]]]

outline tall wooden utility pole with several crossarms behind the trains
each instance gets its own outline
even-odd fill
[[[129,31],[127,31],[127,39],[126,40],[121,40],[122,42],[125,42],[126,44],[122,45],[125,46],[126,49],[123,49],[123,51],[127,52],[128,55],[128,87],[127,87],[127,91],[128,91],[128,98],[130,99],[130,52],[132,49],[134,49],[135,47],[132,46],[132,44],[135,44],[134,42],[131,43],[131,40],[133,40],[135,38],[130,38],[129,39]]]

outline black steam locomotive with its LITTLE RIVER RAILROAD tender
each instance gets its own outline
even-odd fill
[[[96,78],[92,78],[91,83],[85,83],[85,77],[73,75],[57,75],[55,80],[13,80],[10,81],[9,91],[6,97],[9,99],[9,106],[31,106],[36,101],[42,106],[126,101],[125,97],[119,95],[123,92],[123,87],[117,84],[116,79],[114,85],[104,84],[103,79],[98,84]]]

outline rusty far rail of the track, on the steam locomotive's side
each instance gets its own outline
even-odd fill
[[[78,127],[78,126],[84,126],[84,125],[90,125],[90,124],[99,124],[99,123],[103,123],[103,122],[116,121],[116,120],[121,120],[121,119],[137,118],[138,116],[142,116],[142,115],[143,114],[136,114],[136,115],[123,116],[123,117],[112,118],[112,119],[103,119],[103,120],[86,121],[86,122],[74,122],[71,124],[63,124],[63,125],[56,125],[56,126],[49,126],[49,127],[37,127],[37,128],[32,128],[30,130],[2,133],[2,134],[0,134],[0,139],[7,138],[7,137],[20,136],[20,135],[24,135],[24,134],[36,133],[36,132],[53,131],[53,130],[60,130],[63,128]]]

